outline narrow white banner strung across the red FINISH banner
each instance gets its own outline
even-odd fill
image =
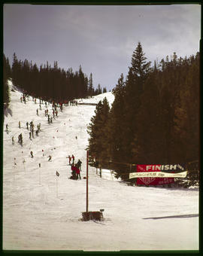
[[[141,177],[152,177],[152,178],[186,178],[187,172],[168,173],[168,172],[131,172],[129,178],[141,178]]]

